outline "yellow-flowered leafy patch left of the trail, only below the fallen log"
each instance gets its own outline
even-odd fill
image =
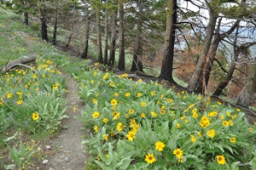
[[[7,146],[12,160],[1,165],[6,169],[32,168],[32,157],[40,152],[33,139],[55,133],[67,117],[65,78],[49,59],[38,58],[36,63],[1,76],[0,145]]]

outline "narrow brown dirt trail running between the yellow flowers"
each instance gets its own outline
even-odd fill
[[[82,130],[82,123],[74,116],[80,116],[80,111],[84,109],[84,105],[78,99],[77,82],[72,77],[65,75],[67,78],[67,105],[70,108],[67,110],[67,118],[62,122],[65,129],[61,129],[58,136],[49,141],[50,150],[56,150],[55,155],[48,158],[46,164],[50,170],[82,170],[85,168],[85,162],[88,154],[85,152],[85,147],[82,142],[82,137],[86,132]],[[73,112],[73,105],[76,105],[77,110]]]

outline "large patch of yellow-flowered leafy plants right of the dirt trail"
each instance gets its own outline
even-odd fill
[[[102,169],[255,168],[256,127],[239,109],[98,69],[79,82],[84,144]]]

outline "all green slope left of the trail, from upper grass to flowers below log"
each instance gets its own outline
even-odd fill
[[[36,169],[45,158],[44,139],[55,135],[67,117],[66,80],[52,61],[67,55],[40,41],[19,15],[3,8],[0,35],[0,68],[20,57],[38,57],[0,75],[0,169]]]

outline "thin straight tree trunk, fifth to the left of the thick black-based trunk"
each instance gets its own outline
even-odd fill
[[[100,1],[99,1],[100,2]],[[102,57],[102,31],[101,31],[101,7],[96,7],[96,29],[97,29],[97,54],[98,62],[103,63]]]

